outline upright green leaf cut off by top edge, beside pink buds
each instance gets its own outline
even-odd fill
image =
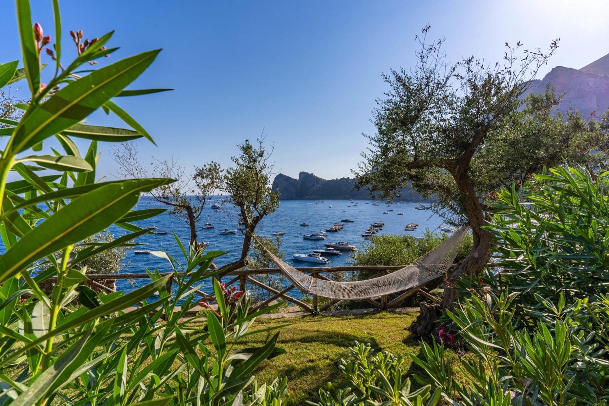
[[[40,65],[38,62],[38,51],[36,50],[36,43],[34,41],[30,2],[29,0],[16,0],[16,6],[19,38],[21,38],[21,54],[23,54],[27,84],[30,87],[33,98],[40,89]]]

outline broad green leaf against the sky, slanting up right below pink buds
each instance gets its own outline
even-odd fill
[[[26,0],[19,0],[26,2]],[[157,57],[159,50],[120,60],[71,82],[31,110],[13,135],[12,149],[24,151],[50,135],[68,129],[116,96]]]

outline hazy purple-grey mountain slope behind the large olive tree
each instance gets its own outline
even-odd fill
[[[554,86],[556,93],[563,93],[558,106],[562,112],[579,110],[583,118],[597,112],[600,116],[609,108],[609,54],[581,69],[556,66],[541,80],[533,80],[527,93],[543,93],[546,85]]]

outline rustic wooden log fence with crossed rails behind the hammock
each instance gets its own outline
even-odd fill
[[[323,268],[307,267],[307,268],[296,268],[296,269],[298,269],[298,271],[311,274],[313,277],[317,277],[319,279],[330,280],[330,279],[328,279],[328,277],[326,277],[322,274],[330,274],[330,273],[345,272],[345,271],[369,271],[369,272],[374,272],[373,275],[370,277],[370,279],[373,279],[373,278],[376,278],[379,276],[386,275],[390,271],[397,271],[398,269],[401,269],[403,267],[404,267],[403,265],[397,265],[397,266],[384,266],[384,265],[365,266],[364,265],[364,266],[327,266],[327,267],[323,267]],[[313,314],[323,312],[324,310],[328,309],[332,305],[340,302],[340,300],[335,299],[335,300],[326,302],[325,304],[322,305],[322,307],[319,307],[319,297],[313,296],[312,305],[308,305],[288,294],[290,290],[296,289],[294,287],[294,285],[292,285],[291,283],[286,288],[284,288],[283,290],[280,291],[280,290],[276,290],[273,287],[270,287],[269,285],[266,285],[266,283],[262,283],[259,280],[253,278],[253,276],[261,275],[261,274],[280,274],[280,273],[281,273],[281,271],[277,268],[238,269],[237,271],[228,272],[227,274],[225,274],[222,277],[222,279],[227,281],[227,282],[224,282],[224,280],[223,280],[223,282],[225,283],[225,285],[227,287],[230,285],[233,285],[234,283],[239,283],[239,290],[245,291],[246,284],[251,283],[252,285],[255,285],[256,287],[259,287],[262,290],[270,293],[270,296],[268,299],[266,299],[265,301],[263,301],[261,303],[256,304],[256,307],[252,308],[252,310],[250,310],[250,312],[255,312],[256,310],[264,308],[264,307],[268,306],[272,301],[275,301],[276,299],[280,299],[280,298],[286,299],[287,301],[292,302],[293,304],[302,308],[306,312],[313,313]],[[174,272],[161,272],[161,275],[162,276],[172,275],[167,280],[167,286],[166,286],[167,291],[171,294],[172,285],[173,285],[173,283],[177,282],[175,280]],[[183,276],[183,275],[184,275],[183,272],[178,272],[178,276]],[[114,292],[115,290],[113,288],[108,287],[104,283],[100,283],[99,282],[100,280],[102,282],[104,282],[107,280],[118,280],[118,279],[149,279],[149,276],[145,273],[144,274],[88,274],[87,277],[90,279],[89,282],[90,282],[91,287],[97,288],[97,290],[104,290],[104,291],[108,291],[108,292]],[[52,281],[52,280],[53,279],[49,279],[49,281]],[[379,309],[387,309],[387,308],[396,307],[396,305],[398,305],[400,302],[404,301],[404,299],[406,299],[406,297],[409,297],[410,295],[419,292],[420,294],[423,294],[423,296],[428,297],[428,299],[431,299],[432,301],[435,301],[435,302],[439,302],[436,297],[431,296],[430,294],[421,290],[421,288],[423,288],[423,286],[424,285],[420,285],[418,287],[414,287],[410,290],[404,291],[403,293],[401,293],[399,296],[393,298],[392,300],[389,300],[390,297],[388,295],[381,295],[378,297],[372,297],[370,299],[364,299],[364,301],[367,302],[368,304],[372,305],[373,307],[376,307]],[[195,292],[200,295],[206,294],[205,292],[200,291],[200,290],[196,290]],[[210,293],[209,296],[213,296],[213,293]]]

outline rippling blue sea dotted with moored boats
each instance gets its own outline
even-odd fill
[[[199,229],[197,230],[197,240],[208,243],[206,249],[227,252],[227,254],[217,258],[216,265],[218,266],[238,259],[243,241],[243,235],[239,231],[238,225],[238,210],[230,203],[222,204],[222,201],[221,197],[211,199],[203,210]],[[222,208],[218,212],[209,207],[216,202],[222,205]],[[323,243],[338,241],[348,241],[361,249],[364,244],[368,243],[361,234],[365,232],[371,223],[376,221],[385,223],[385,227],[378,233],[379,235],[409,233],[417,237],[423,235],[426,228],[438,231],[437,227],[443,223],[443,219],[430,210],[417,210],[415,206],[418,203],[415,202],[396,202],[390,205],[383,202],[378,202],[378,205],[373,205],[372,203],[373,201],[370,200],[350,201],[348,199],[331,199],[324,202],[316,200],[282,200],[278,210],[262,219],[256,230],[260,235],[268,235],[269,237],[273,237],[272,233],[275,231],[285,232],[285,235],[281,236],[283,239],[281,251],[285,254],[284,260],[293,266],[315,266],[314,263],[292,260],[292,254],[308,254],[312,249],[323,249]],[[166,206],[154,201],[149,196],[139,199],[138,209],[153,207],[166,208]],[[383,214],[385,211],[389,211],[389,213]],[[398,215],[400,212],[404,214]],[[345,227],[339,232],[328,233],[325,241],[303,240],[304,234],[320,230],[325,231],[326,228],[334,223],[340,223],[340,220],[344,218],[353,219],[354,222],[344,223]],[[216,228],[201,229],[206,222],[213,223]],[[305,222],[309,223],[310,226],[300,226],[300,223]],[[408,223],[417,223],[419,227],[414,232],[404,231],[404,226]],[[155,226],[157,227],[157,232],[168,232],[164,235],[147,234],[139,237],[136,242],[145,245],[138,246],[136,249],[163,250],[177,260],[183,258],[172,232],[177,233],[185,246],[188,245],[190,231],[185,221],[163,213],[151,219],[139,221],[136,224],[141,227]],[[233,235],[220,235],[220,232],[224,229],[238,230],[238,232]],[[124,229],[116,226],[111,227],[110,231],[115,237],[125,233]],[[349,254],[348,252],[343,252],[343,255],[331,255],[328,258],[330,262],[327,266],[348,265]],[[169,262],[164,258],[127,251],[127,259],[121,272],[145,273],[145,268],[150,271],[154,271],[155,268],[160,272],[171,271]],[[135,279],[131,282],[133,285],[127,280],[118,280],[117,288],[130,291],[133,288],[143,286],[149,280]],[[203,290],[209,291],[209,287],[204,286]],[[300,295],[295,294],[295,296],[298,297]]]

